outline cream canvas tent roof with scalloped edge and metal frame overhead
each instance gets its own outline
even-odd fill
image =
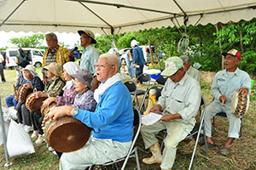
[[[0,0],[0,31],[121,33],[255,16],[255,0]]]

